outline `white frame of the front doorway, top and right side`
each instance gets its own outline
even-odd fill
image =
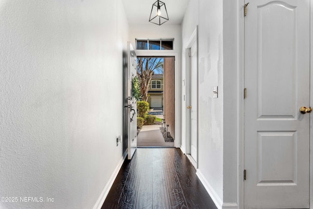
[[[135,53],[137,57],[174,57],[174,96],[175,98],[179,98],[179,54],[177,52],[168,52],[166,50],[136,50]],[[179,148],[180,140],[177,139],[181,132],[181,126],[179,126],[179,111],[181,110],[181,105],[179,104],[179,101],[177,99],[174,100],[174,108],[175,108],[175,140],[174,140],[174,146],[176,148]]]

